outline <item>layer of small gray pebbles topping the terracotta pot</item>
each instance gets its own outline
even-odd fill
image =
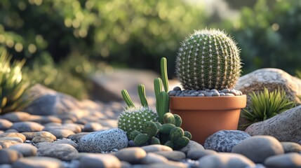
[[[170,90],[168,94],[173,97],[229,97],[243,95],[241,91],[234,89],[182,90],[178,86],[174,87],[173,90]]]

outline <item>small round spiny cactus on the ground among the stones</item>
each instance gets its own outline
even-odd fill
[[[119,116],[118,127],[129,136],[134,130],[142,132],[147,121],[158,121],[158,114],[149,107],[131,107]]]

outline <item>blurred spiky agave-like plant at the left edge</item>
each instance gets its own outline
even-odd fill
[[[0,51],[0,114],[19,111],[29,104],[25,91],[29,83],[22,79],[21,62],[11,64],[11,56],[6,50]]]

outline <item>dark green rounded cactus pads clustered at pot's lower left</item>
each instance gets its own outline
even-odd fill
[[[192,139],[192,134],[182,130],[180,127],[182,124],[180,116],[165,113],[163,118],[162,125],[159,122],[151,121],[145,123],[142,132],[131,132],[130,139],[138,146],[144,144],[164,144],[173,149],[187,146],[189,139]]]

